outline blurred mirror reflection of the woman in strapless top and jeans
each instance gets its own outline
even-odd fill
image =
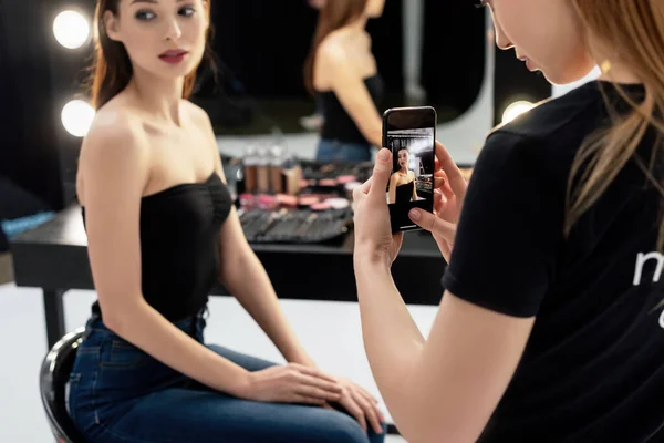
[[[370,161],[372,145],[383,143],[378,106],[384,86],[365,27],[367,19],[381,17],[384,4],[385,0],[334,0],[320,11],[304,69],[307,89],[325,117],[320,161]]]

